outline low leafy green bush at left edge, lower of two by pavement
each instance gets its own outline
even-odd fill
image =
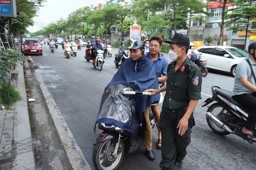
[[[8,96],[9,84],[2,83],[0,85],[2,86],[2,89],[0,89],[0,94],[4,94],[6,96],[6,97],[0,96],[0,104],[4,105],[4,100],[5,100],[5,105],[7,106],[7,96]],[[10,86],[9,106],[12,106],[15,102],[17,102],[19,100],[22,100],[22,97],[20,96],[20,92],[18,92],[14,86]]]

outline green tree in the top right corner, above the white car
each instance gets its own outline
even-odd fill
[[[236,29],[238,31],[245,31],[245,46],[248,30],[252,27],[252,20],[256,20],[256,0],[234,0],[235,7],[228,11],[233,11],[231,14],[226,14],[226,23],[232,23],[232,26],[228,29]]]

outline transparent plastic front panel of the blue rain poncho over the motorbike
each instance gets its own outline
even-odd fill
[[[123,91],[137,92],[138,89],[128,84],[114,84],[106,88],[103,94],[103,106],[97,119],[106,117],[128,125],[132,124],[136,95],[122,94]]]

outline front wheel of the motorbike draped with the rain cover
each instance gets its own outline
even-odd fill
[[[116,142],[113,139],[96,143],[93,149],[92,162],[96,170],[116,170],[124,157],[124,142],[120,140],[118,155],[114,157]]]

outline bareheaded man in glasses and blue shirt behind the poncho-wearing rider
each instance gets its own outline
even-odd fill
[[[160,54],[160,51],[162,49],[162,42],[163,41],[158,36],[153,36],[153,37],[150,38],[150,40],[145,40],[145,41],[148,41],[148,45],[149,45],[148,46],[149,47],[148,48],[149,52],[146,53],[146,55],[147,55],[148,59],[150,59],[154,63],[158,82],[165,82],[166,79],[167,79],[168,60]],[[146,48],[145,48],[145,50],[146,50]],[[163,102],[163,97],[162,96],[163,95],[161,93],[159,103]],[[158,142],[157,142],[156,146],[158,148],[161,148],[161,138],[162,137],[161,137],[161,131],[160,131],[160,128],[159,128],[159,117],[160,117],[159,103],[158,104],[152,104],[150,107],[151,107],[152,113],[154,114],[156,127],[158,129]]]

